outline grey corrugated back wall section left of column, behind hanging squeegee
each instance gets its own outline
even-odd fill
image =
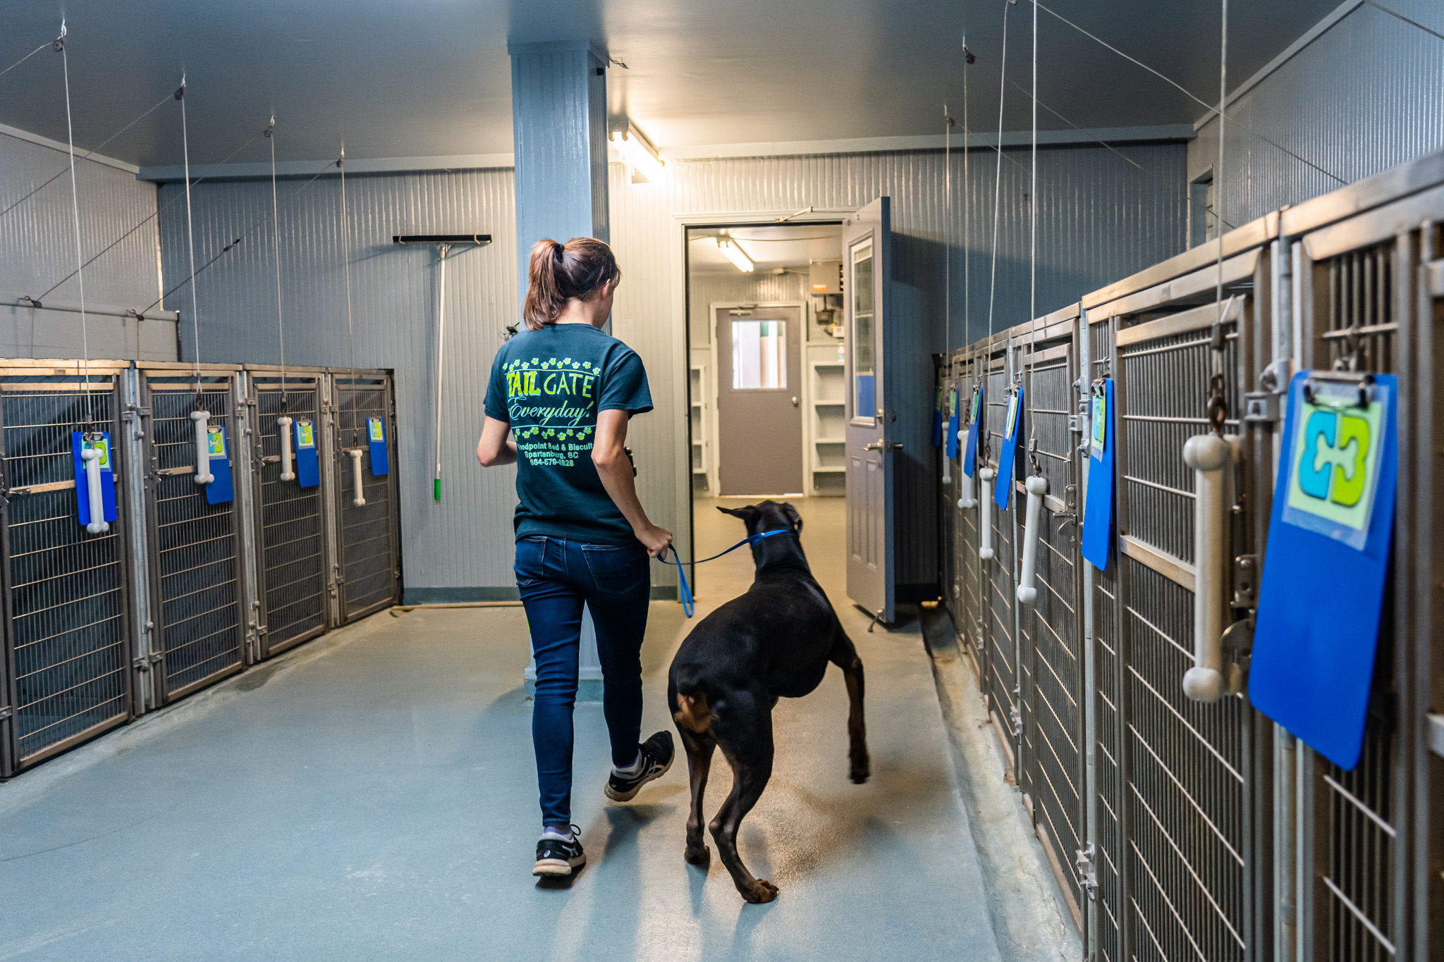
[[[319,164],[318,164],[319,166]],[[280,183],[282,202],[305,180]],[[166,185],[160,203],[183,190]],[[393,368],[406,584],[514,590],[513,469],[481,470],[474,450],[482,398],[503,327],[517,317],[516,218],[511,170],[348,176],[351,304],[358,368]],[[196,265],[270,213],[269,182],[204,183],[192,189]],[[185,278],[186,221],[178,203],[162,213],[165,275]],[[399,248],[393,234],[491,234],[490,247],[452,251],[446,267],[446,369],[442,500],[432,500],[436,252]],[[276,267],[264,224],[196,278],[201,359],[276,363]],[[349,366],[341,182],[315,180],[280,209],[286,361]],[[182,310],[186,358],[193,356],[191,296]]]

